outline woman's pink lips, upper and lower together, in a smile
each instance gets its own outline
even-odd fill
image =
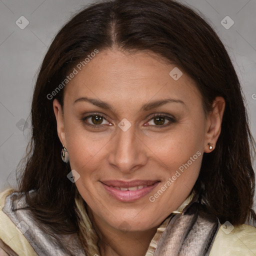
[[[132,180],[132,181],[122,181],[122,180],[104,180],[101,181],[103,187],[107,192],[115,199],[122,202],[132,202],[144,197],[148,194],[155,186],[158,185],[159,180]],[[116,189],[112,186],[116,187],[134,187],[134,186],[146,186],[141,189],[137,189],[134,191],[122,191]]]

